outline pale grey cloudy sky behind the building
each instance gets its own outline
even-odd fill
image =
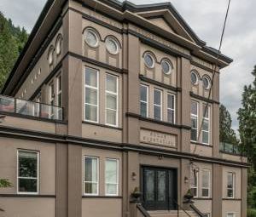
[[[255,0],[231,0],[230,17],[224,37],[222,53],[234,62],[221,73],[221,102],[227,106],[234,128],[238,127],[236,111],[241,106],[241,93],[251,83],[251,71],[256,65]],[[0,10],[15,25],[31,31],[46,0],[1,0]],[[133,3],[160,3],[161,0],[131,0]],[[228,0],[171,0],[183,18],[207,45],[218,48],[221,28]]]

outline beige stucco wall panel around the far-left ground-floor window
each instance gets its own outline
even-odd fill
[[[17,193],[17,150],[39,151],[39,194],[55,195],[55,145],[31,140],[0,138],[0,175],[9,179],[12,187],[0,193]]]

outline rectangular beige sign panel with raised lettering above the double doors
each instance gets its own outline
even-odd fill
[[[177,147],[177,135],[163,134],[157,131],[141,129],[140,141],[142,143],[153,144],[158,146]]]

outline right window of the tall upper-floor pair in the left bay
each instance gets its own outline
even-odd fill
[[[106,74],[106,124],[118,126],[119,107],[119,79],[111,74]]]

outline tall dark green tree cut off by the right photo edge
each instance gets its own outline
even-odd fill
[[[252,164],[248,169],[248,206],[256,208],[256,66],[252,74],[253,83],[244,87],[238,120],[241,151]]]

